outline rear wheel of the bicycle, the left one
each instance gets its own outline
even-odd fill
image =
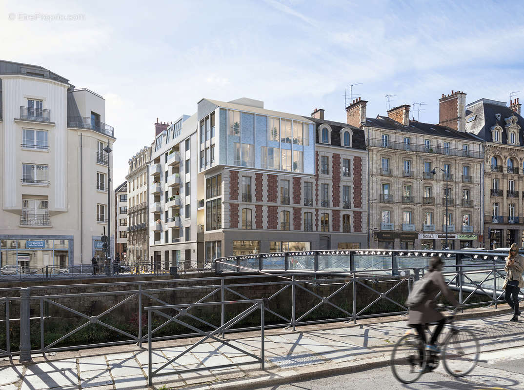
[[[391,371],[402,383],[413,383],[424,373],[427,351],[415,335],[403,336],[391,352]]]

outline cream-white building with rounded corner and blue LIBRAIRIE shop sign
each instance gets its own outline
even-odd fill
[[[104,148],[114,141],[102,96],[41,66],[0,61],[1,265],[104,258],[113,164]]]

